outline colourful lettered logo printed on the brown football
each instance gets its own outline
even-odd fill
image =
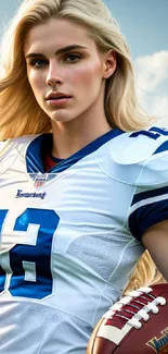
[[[158,339],[154,337],[146,343],[157,354],[168,353],[168,327],[161,331],[161,334]]]

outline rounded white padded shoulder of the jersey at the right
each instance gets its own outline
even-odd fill
[[[167,181],[168,131],[160,127],[127,132],[112,138],[99,151],[105,173],[129,185]]]

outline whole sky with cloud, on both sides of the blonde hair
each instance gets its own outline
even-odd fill
[[[20,2],[22,0],[2,1],[1,23],[7,24]],[[160,125],[168,126],[168,0],[104,2],[130,46],[142,107],[147,113],[163,117]]]

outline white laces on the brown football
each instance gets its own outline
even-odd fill
[[[128,325],[134,327],[135,329],[140,329],[143,325],[140,322],[141,319],[143,319],[144,321],[147,321],[150,319],[150,315],[148,313],[153,313],[153,314],[158,314],[159,313],[159,308],[157,307],[157,305],[166,305],[166,300],[163,296],[157,296],[155,297],[153,294],[150,294],[150,292],[152,292],[151,288],[140,288],[135,291],[132,291],[129,293],[128,296],[125,296],[119,300],[118,302],[118,307],[122,307],[122,305],[127,305],[129,304],[130,300],[132,300],[132,297],[138,297],[141,295],[141,298],[144,298],[146,301],[146,297],[143,297],[143,293],[147,294],[147,296],[150,296],[153,301],[151,303],[148,303],[147,305],[144,305],[143,303],[141,303],[140,301],[135,301],[138,304],[144,305],[144,307],[142,309],[140,309],[137,314],[134,314],[133,312],[131,312],[130,309],[125,309],[125,313],[130,313],[133,315],[133,317],[131,319],[127,318],[126,316],[121,315],[121,314],[116,314],[116,316],[122,317],[125,318]],[[130,304],[132,307],[135,307],[138,309],[138,306]],[[112,306],[112,309],[115,309],[114,306]],[[119,308],[116,308],[119,309]]]

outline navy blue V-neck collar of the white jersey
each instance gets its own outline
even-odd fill
[[[112,138],[124,134],[125,132],[120,130],[112,130],[106,134],[100,136],[92,143],[88,144],[86,147],[74,154],[67,159],[64,159],[53,168],[51,168],[49,172],[59,173],[63,172],[76,162],[78,162],[83,157],[94,152],[98,150],[102,145],[111,141]],[[46,148],[51,147],[52,145],[52,134],[42,134],[36,137],[27,148],[26,152],[26,164],[27,164],[27,172],[28,173],[36,173],[41,172],[44,173],[43,161],[42,161],[42,151]]]

